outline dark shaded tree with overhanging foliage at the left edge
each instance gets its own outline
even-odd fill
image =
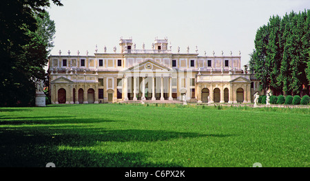
[[[0,1],[0,106],[29,105],[34,97],[33,79],[43,78],[48,54],[36,16],[49,6],[49,0]]]

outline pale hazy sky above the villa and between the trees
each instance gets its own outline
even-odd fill
[[[62,0],[48,8],[56,25],[51,55],[120,53],[119,40],[130,39],[136,49],[152,49],[155,38],[165,39],[172,52],[199,56],[238,56],[242,66],[254,50],[256,31],[273,15],[310,9],[309,0]],[[52,3],[51,3],[52,4]]]

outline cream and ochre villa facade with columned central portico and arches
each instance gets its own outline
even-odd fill
[[[50,56],[52,104],[116,103],[121,100],[184,100],[195,103],[251,103],[259,81],[242,70],[239,56],[173,53],[167,39],[137,50],[132,39],[120,51],[94,56]],[[198,52],[198,51],[196,51]]]

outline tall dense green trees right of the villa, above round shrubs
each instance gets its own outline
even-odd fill
[[[270,17],[256,32],[250,70],[273,94],[309,94],[310,10]]]

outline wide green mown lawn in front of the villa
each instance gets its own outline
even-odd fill
[[[310,167],[309,113],[201,105],[2,107],[0,167]]]

